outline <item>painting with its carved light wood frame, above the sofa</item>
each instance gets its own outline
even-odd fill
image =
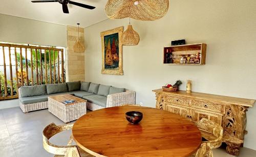
[[[123,75],[122,42],[123,27],[100,33],[102,47],[101,74]]]

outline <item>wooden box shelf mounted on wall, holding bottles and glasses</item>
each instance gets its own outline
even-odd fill
[[[196,44],[183,44],[179,46],[164,47],[163,63],[174,64],[174,65],[205,64],[206,46],[207,45],[205,43],[196,43]]]

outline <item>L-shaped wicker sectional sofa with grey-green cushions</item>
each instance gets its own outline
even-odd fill
[[[86,99],[87,109],[90,110],[135,103],[134,91],[92,82],[76,81],[22,86],[18,89],[19,106],[24,113],[45,109],[48,108],[49,96],[61,94],[71,94]]]

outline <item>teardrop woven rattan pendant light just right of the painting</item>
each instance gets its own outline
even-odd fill
[[[135,46],[139,43],[139,41],[140,41],[140,36],[136,31],[133,30],[133,26],[131,25],[131,21],[129,21],[129,25],[127,27],[127,30],[125,30],[122,33],[122,44],[124,46]]]

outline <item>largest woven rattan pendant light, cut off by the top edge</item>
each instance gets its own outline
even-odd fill
[[[151,21],[163,17],[169,8],[169,0],[109,0],[105,6],[111,19],[131,17]]]

